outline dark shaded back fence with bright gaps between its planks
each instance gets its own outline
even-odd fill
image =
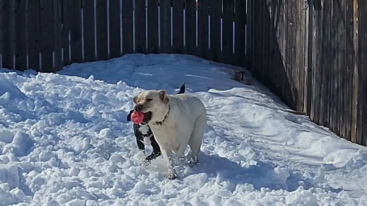
[[[54,72],[128,53],[244,66],[246,0],[2,0],[1,67]]]

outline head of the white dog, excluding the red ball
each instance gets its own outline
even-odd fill
[[[145,124],[150,121],[162,121],[168,113],[168,95],[164,90],[147,90],[139,93],[133,99],[135,103],[134,110],[144,113]]]

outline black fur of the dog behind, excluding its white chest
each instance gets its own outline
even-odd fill
[[[177,92],[177,94],[183,94],[183,93],[185,93],[185,83],[183,83],[183,85],[180,87],[180,91]],[[127,121],[128,122],[131,121],[131,113],[133,111],[134,110],[131,110],[130,113],[127,115]],[[150,127],[148,125],[145,125],[145,126],[148,126],[149,130],[148,130],[147,134],[143,134],[139,130],[139,128],[141,126],[142,125],[140,125],[140,124],[134,124],[134,134],[135,134],[135,137],[136,137],[138,148],[140,150],[142,150],[144,153],[145,153],[145,145],[143,143],[144,137],[152,135],[150,137],[150,145],[153,147],[153,152],[152,152],[152,154],[148,155],[148,157],[146,157],[145,160],[144,160],[144,162],[149,163],[153,159],[156,159],[157,157],[159,157],[161,155],[161,151],[160,151],[160,147],[159,147],[157,141],[154,138],[152,130],[150,130]]]

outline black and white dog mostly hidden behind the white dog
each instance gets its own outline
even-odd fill
[[[180,87],[180,91],[178,91],[177,94],[183,94],[185,93],[185,83]],[[130,113],[127,115],[127,121],[131,121],[131,114],[134,112],[134,110],[131,110]],[[149,115],[144,116],[144,121],[146,119],[149,120]],[[152,154],[148,155],[148,157],[145,158],[144,164],[148,165],[153,159],[156,159],[161,155],[160,147],[155,140],[155,137],[152,133],[152,130],[150,130],[150,127],[147,124],[134,124],[134,134],[136,137],[137,145],[140,150],[142,150],[145,153],[145,144],[150,144],[153,147]]]

